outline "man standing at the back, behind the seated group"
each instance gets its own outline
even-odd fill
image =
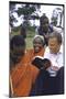
[[[40,18],[40,28],[38,28],[37,32],[40,35],[44,36],[45,45],[48,45],[47,40],[48,40],[48,35],[53,32],[53,26],[50,25],[48,18],[45,14],[43,14]]]

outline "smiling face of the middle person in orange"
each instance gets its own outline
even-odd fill
[[[43,47],[43,43],[41,41],[41,38],[36,37],[33,42],[33,47],[34,47],[34,52],[37,53],[41,51],[41,48]]]

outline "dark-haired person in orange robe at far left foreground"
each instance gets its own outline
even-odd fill
[[[35,67],[31,66],[22,35],[14,35],[10,41],[10,97],[26,97],[34,84]],[[36,74],[35,74],[36,75]]]

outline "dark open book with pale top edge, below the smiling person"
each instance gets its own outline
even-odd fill
[[[32,61],[32,64],[40,69],[46,69],[51,66],[51,61],[41,56],[35,56]]]

